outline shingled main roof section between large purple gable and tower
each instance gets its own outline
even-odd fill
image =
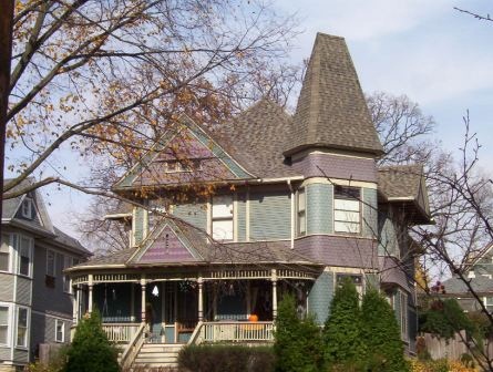
[[[249,173],[270,178],[297,175],[284,164],[283,152],[291,133],[292,117],[277,103],[263,99],[212,136]]]

